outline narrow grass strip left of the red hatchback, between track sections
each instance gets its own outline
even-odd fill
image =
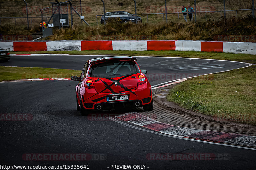
[[[79,70],[0,66],[0,82],[26,78],[70,78],[80,74]]]

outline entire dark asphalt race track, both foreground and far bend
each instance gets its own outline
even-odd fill
[[[11,56],[8,63],[0,65],[81,70],[90,58],[95,56]],[[136,58],[140,68],[148,70],[151,85],[190,74],[202,75],[248,66],[215,60]],[[95,120],[80,116],[76,111],[76,84],[68,80],[0,83],[1,115],[32,116],[27,121],[0,121],[1,165],[88,165],[89,169],[114,169],[111,165],[132,165],[131,169],[134,165],[145,165],[137,169],[256,168],[256,150],[253,149],[167,137],[108,118]],[[138,109],[103,113],[131,111],[138,112]],[[80,153],[86,154],[86,160],[81,161],[80,157],[61,160],[59,157]],[[168,153],[176,159],[163,156]],[[58,155],[59,159],[52,160],[53,156],[49,157],[52,154]],[[186,155],[189,154],[194,156],[188,159]]]

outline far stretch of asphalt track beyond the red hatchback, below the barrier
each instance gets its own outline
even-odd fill
[[[82,70],[87,60],[102,56],[89,55],[14,55],[5,66],[46,67]],[[147,77],[152,86],[180,78],[188,78],[213,72],[232,70],[248,66],[246,63],[169,57],[138,57],[140,69],[148,70]]]

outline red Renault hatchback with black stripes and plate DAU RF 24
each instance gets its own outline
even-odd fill
[[[151,85],[136,58],[111,56],[88,60],[81,76],[71,76],[76,85],[76,108],[81,115],[89,110],[143,107],[153,110]]]

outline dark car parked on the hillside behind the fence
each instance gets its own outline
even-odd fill
[[[108,20],[108,18],[117,18],[119,17],[122,22],[126,23],[131,21],[132,23],[136,22],[136,16],[130,14],[126,11],[114,11],[114,12],[107,12],[105,13],[105,18],[102,16],[100,18],[100,23],[103,24],[104,20]],[[142,22],[142,19],[137,16],[137,22]]]

